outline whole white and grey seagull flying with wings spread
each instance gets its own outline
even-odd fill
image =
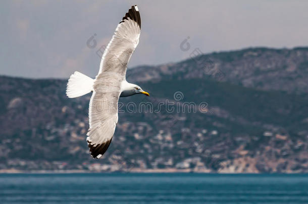
[[[92,92],[89,103],[87,144],[93,158],[107,151],[118,122],[119,97],[149,94],[126,81],[127,63],[139,43],[141,19],[137,5],[132,6],[118,24],[101,57],[99,72],[92,79],[80,72],[72,74],[66,95],[76,98]]]

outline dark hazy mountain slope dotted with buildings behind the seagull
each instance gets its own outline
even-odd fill
[[[150,97],[120,99],[99,160],[85,142],[90,94],[0,77],[1,171],[308,172],[308,48],[190,56],[128,70]]]

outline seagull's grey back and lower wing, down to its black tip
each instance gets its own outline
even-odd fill
[[[89,105],[87,143],[93,158],[101,157],[108,149],[118,122],[118,100],[121,94],[120,75],[106,72],[96,79]]]

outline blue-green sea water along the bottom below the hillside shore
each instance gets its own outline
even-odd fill
[[[0,174],[0,203],[308,203],[308,175]]]

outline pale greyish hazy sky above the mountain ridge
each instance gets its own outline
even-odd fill
[[[202,52],[308,45],[308,1],[4,1],[0,75],[94,77],[117,24],[138,5],[141,35],[129,67],[176,62]],[[93,36],[96,41],[87,40]],[[180,49],[189,36],[190,49]],[[94,47],[94,48],[91,48]]]

